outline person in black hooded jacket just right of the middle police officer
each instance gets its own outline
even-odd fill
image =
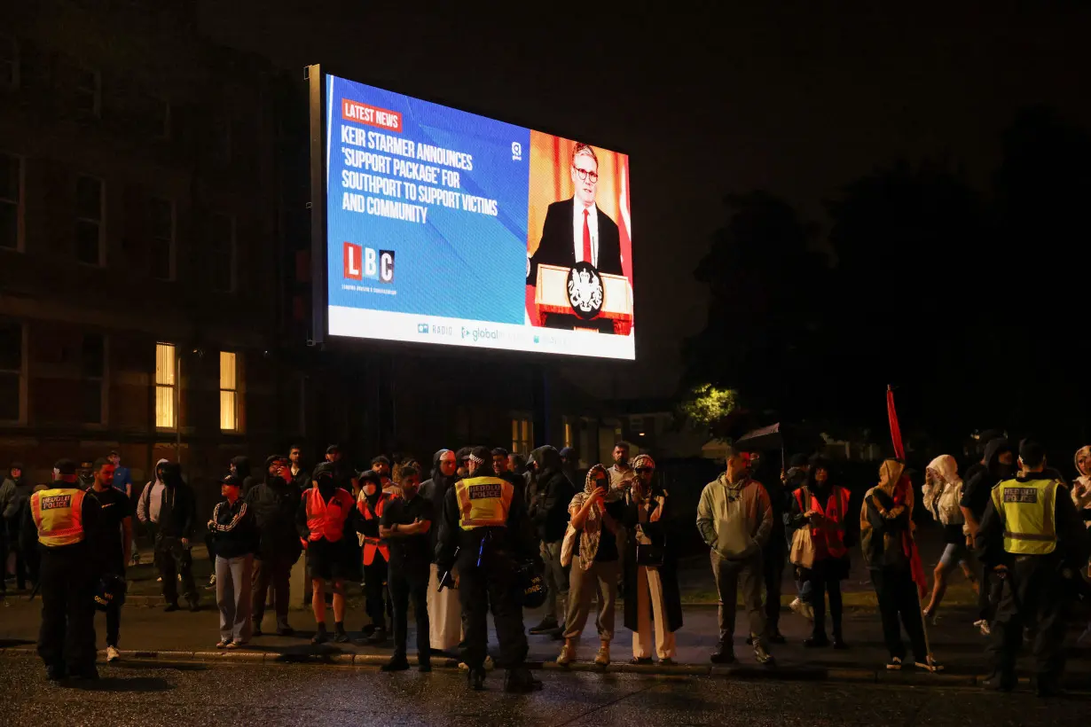
[[[564,473],[561,455],[549,445],[530,452],[529,469],[533,473],[533,499],[528,506],[546,564],[546,614],[530,633],[564,633],[561,620],[568,608],[568,569],[561,565],[561,544],[568,529],[568,504],[576,489]],[[560,614],[561,620],[558,619]]]

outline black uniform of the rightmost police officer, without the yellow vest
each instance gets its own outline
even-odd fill
[[[1043,476],[1042,473],[1029,473],[1016,480],[1026,482]],[[978,530],[975,545],[985,568],[1007,568],[1007,573],[997,575],[999,601],[987,652],[993,674],[1009,688],[1015,686],[1023,628],[1036,629],[1032,651],[1040,689],[1057,687],[1065,668],[1064,608],[1074,584],[1081,580],[1080,571],[1087,566],[1091,543],[1068,487],[1063,484],[1057,485],[1053,522],[1056,549],[1041,556],[1012,555],[1004,549],[1006,529],[992,498]],[[1064,577],[1064,570],[1070,572],[1070,578]]]

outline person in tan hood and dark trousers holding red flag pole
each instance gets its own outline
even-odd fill
[[[878,596],[883,637],[890,661],[887,669],[897,671],[906,658],[901,626],[909,635],[914,664],[927,671],[940,667],[928,653],[921,618],[918,585],[913,582],[911,544],[913,528],[913,486],[904,476],[906,465],[894,459],[879,468],[879,484],[867,490],[860,511],[860,545]],[[901,626],[898,623],[901,617]]]

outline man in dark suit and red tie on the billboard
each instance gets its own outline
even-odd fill
[[[539,264],[572,267],[586,262],[599,272],[622,275],[618,223],[595,204],[599,186],[599,160],[595,149],[577,144],[572,153],[571,173],[576,193],[571,199],[549,206],[541,242],[533,256],[527,259],[528,286],[537,284]]]

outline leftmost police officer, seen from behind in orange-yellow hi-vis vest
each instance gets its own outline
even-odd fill
[[[38,654],[50,681],[71,675],[97,679],[94,577],[87,533],[98,513],[95,498],[80,489],[75,463],[53,465],[53,486],[34,493],[22,534],[24,548],[37,538],[41,554],[41,632]]]

